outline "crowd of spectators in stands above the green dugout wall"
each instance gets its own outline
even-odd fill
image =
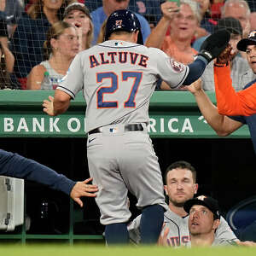
[[[235,81],[235,89],[241,90],[244,84],[239,83],[239,77],[249,68],[244,59],[245,53],[238,52],[236,44],[241,37],[247,38],[256,27],[253,1],[248,4],[244,0],[181,0],[175,13],[169,11],[170,4],[172,2],[160,0],[1,1],[1,88],[55,89],[76,52],[103,41],[104,20],[108,15],[116,9],[131,9],[140,20],[144,44],[162,49],[174,61],[183,64],[194,61],[202,42],[212,32],[218,28],[230,29],[230,44],[234,49],[231,77]],[[224,18],[236,20],[222,20],[221,26],[218,26],[219,19]],[[79,50],[71,43],[67,43],[68,46],[62,51],[61,47],[53,46],[55,41],[61,42],[61,34],[55,32],[55,23],[61,20],[74,26],[73,36],[79,38],[74,44],[79,45]],[[65,22],[58,24],[63,26]],[[72,30],[71,27],[69,29]],[[69,48],[73,48],[73,54],[67,53]],[[56,55],[61,67],[55,62]],[[212,73],[212,66],[209,65],[202,77],[204,90],[214,90]],[[41,87],[43,80],[51,82],[46,81],[48,85]],[[164,82],[158,84],[157,89],[170,90]]]

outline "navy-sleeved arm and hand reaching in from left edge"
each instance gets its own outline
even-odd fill
[[[50,189],[60,190],[70,195],[80,207],[83,207],[81,196],[95,197],[96,194],[93,192],[98,190],[96,185],[88,184],[92,178],[76,183],[37,161],[3,149],[0,149],[0,175],[24,178],[47,185]]]

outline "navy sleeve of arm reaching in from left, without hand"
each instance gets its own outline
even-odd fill
[[[0,149],[0,175],[42,183],[67,195],[70,195],[75,185],[75,182],[47,166],[2,149]]]

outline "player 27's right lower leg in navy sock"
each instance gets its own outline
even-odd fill
[[[143,244],[156,243],[164,223],[164,208],[153,205],[143,209],[140,230]]]

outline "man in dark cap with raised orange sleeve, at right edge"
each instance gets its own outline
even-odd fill
[[[214,64],[214,80],[218,113],[249,116],[256,113],[256,31],[241,39],[237,49],[246,52],[251,70],[243,74],[247,81],[244,90],[236,92],[230,79],[230,47],[224,50]]]

